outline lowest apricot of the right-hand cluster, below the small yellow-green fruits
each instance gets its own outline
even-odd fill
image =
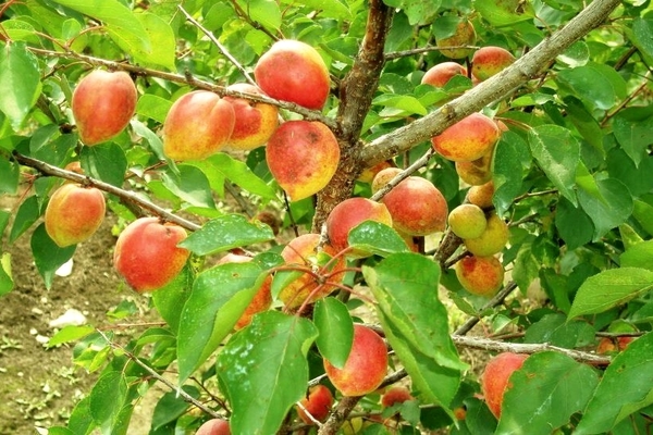
[[[472,295],[492,297],[504,279],[504,268],[496,257],[465,257],[455,270],[463,288]]]

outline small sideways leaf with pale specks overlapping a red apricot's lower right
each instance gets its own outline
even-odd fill
[[[387,257],[394,252],[407,252],[406,241],[392,227],[375,221],[365,221],[349,232],[347,241],[356,251]]]

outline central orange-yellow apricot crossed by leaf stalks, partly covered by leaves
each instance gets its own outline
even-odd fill
[[[346,266],[346,261],[343,257],[331,261],[328,259],[320,264],[320,256],[317,248],[320,243],[319,234],[304,234],[292,239],[281,251],[281,257],[287,265],[317,266],[318,273],[324,277],[329,275],[329,281],[340,283],[344,278],[345,273],[338,273]],[[322,247],[323,253],[329,257],[335,257],[337,251],[331,245]],[[331,294],[337,287],[334,284],[323,284],[317,294],[311,295],[318,286],[320,286],[321,277],[317,277],[311,273],[301,273],[298,277],[289,282],[279,294],[279,299],[291,309],[299,308],[310,296],[308,303],[323,298]]]

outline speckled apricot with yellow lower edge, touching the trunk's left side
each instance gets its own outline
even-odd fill
[[[318,121],[288,121],[268,140],[266,159],[292,201],[322,190],[337,170],[340,145]]]

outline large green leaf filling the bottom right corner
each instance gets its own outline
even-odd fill
[[[631,341],[605,370],[575,435],[607,433],[619,421],[653,403],[653,334]]]

